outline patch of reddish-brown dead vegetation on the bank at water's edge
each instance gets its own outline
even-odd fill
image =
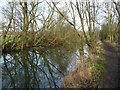
[[[62,87],[91,87],[95,78],[93,74],[94,69],[92,63],[81,62],[73,73],[64,78]]]

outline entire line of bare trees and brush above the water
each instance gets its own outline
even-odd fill
[[[110,3],[76,0],[62,2],[64,7],[58,7],[59,3],[9,2],[8,6],[3,8],[3,51],[77,42],[81,55],[85,44],[90,53],[96,53],[99,31],[102,40],[117,41],[118,3],[112,1],[110,7]],[[47,13],[41,7],[47,7]],[[97,28],[100,12],[106,19],[102,30]],[[12,34],[8,35],[9,32]]]

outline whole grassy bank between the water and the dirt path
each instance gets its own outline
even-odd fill
[[[66,76],[62,87],[64,88],[101,88],[104,73],[104,51],[100,43],[97,55],[93,55],[94,60],[83,60],[76,67],[76,70]]]

